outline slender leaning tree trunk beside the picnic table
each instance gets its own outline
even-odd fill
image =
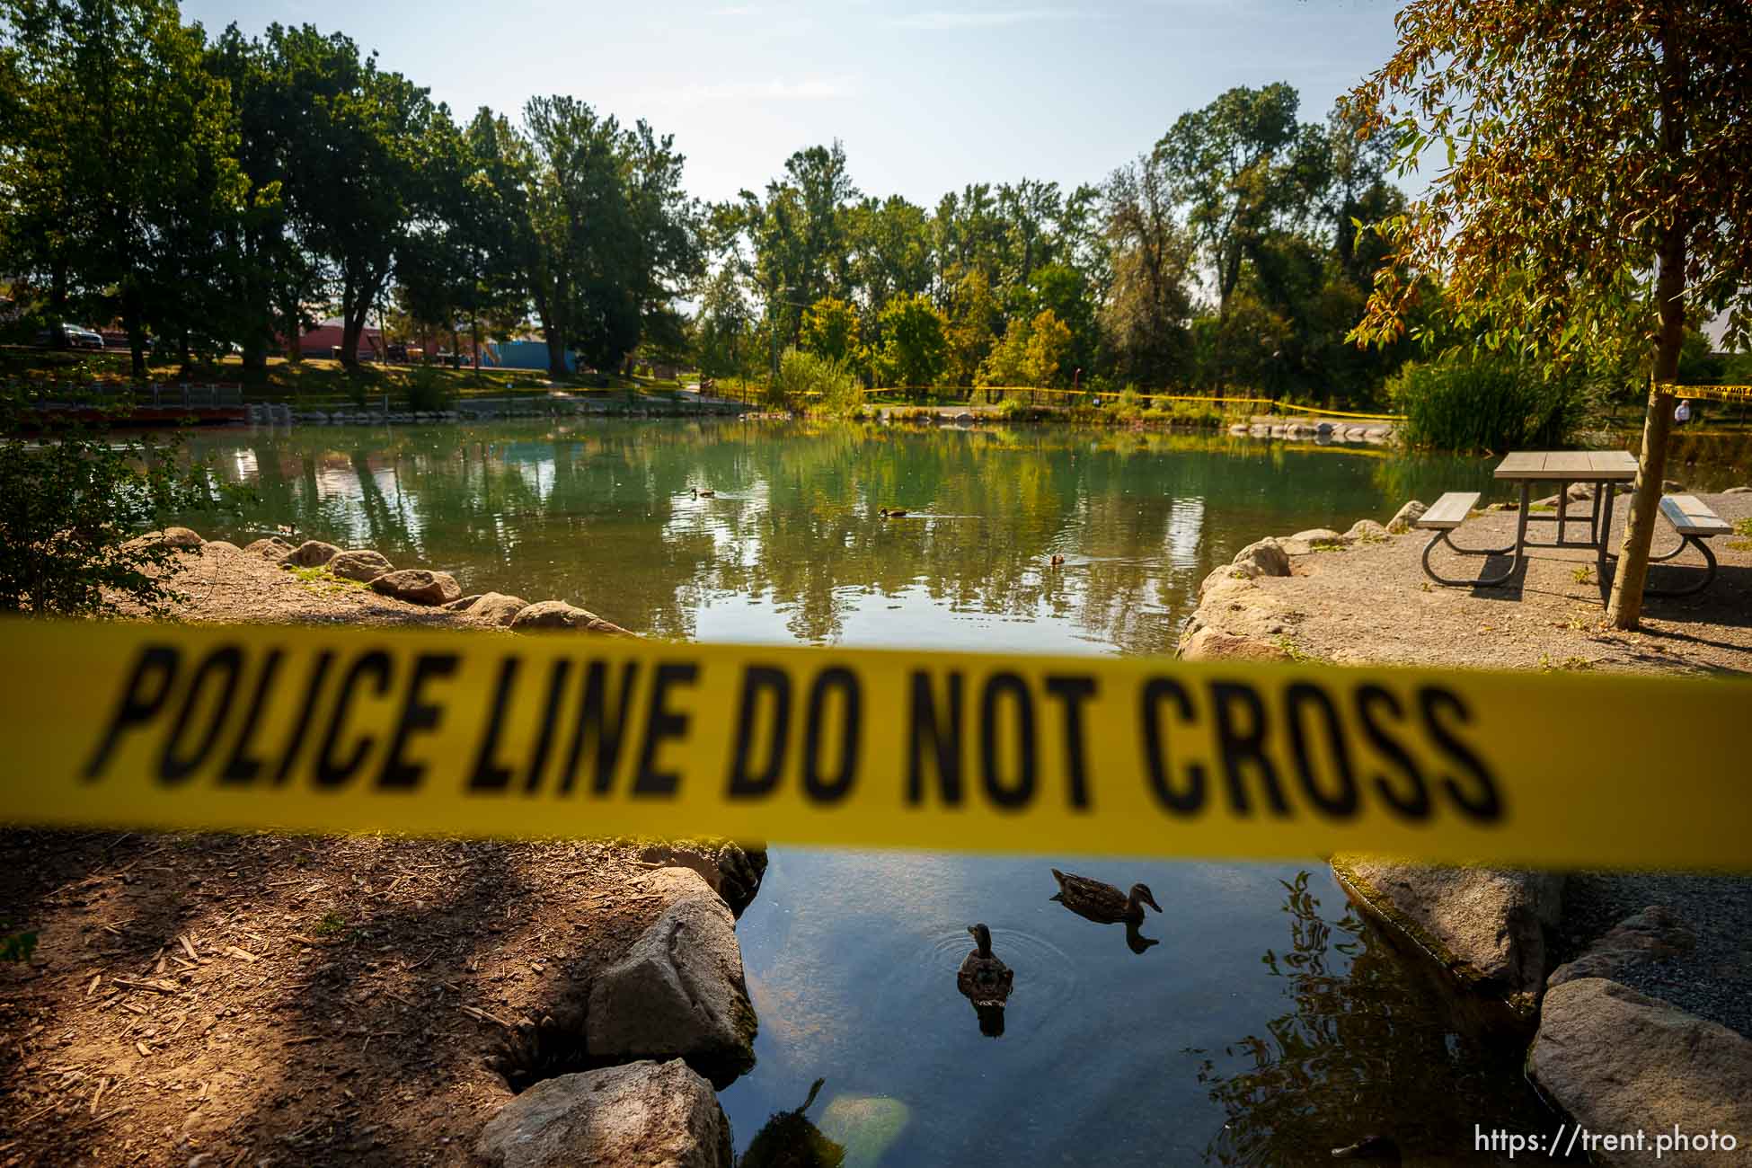
[[[1659,26],[1661,42],[1661,152],[1678,159],[1685,152],[1687,67],[1675,44],[1670,18]],[[1675,200],[1677,203],[1677,200]],[[1678,375],[1678,348],[1685,338],[1685,236],[1691,229],[1687,210],[1675,207],[1673,219],[1661,233],[1654,296],[1661,312],[1661,331],[1654,350],[1649,383],[1649,408],[1643,413],[1643,448],[1636,464],[1636,494],[1624,524],[1619,567],[1612,578],[1607,616],[1614,629],[1635,629],[1642,622],[1643,585],[1649,580],[1649,545],[1654,541],[1654,517],[1661,506],[1661,482],[1666,476],[1666,440],[1673,433],[1673,396],[1663,392]],[[1612,511],[1608,510],[1610,517]]]

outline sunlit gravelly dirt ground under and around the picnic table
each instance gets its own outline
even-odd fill
[[[1752,494],[1699,496],[1724,520],[1752,518]],[[1586,515],[1572,503],[1570,515]],[[1628,497],[1614,511],[1610,550],[1622,536]],[[1344,531],[1354,518],[1333,517]],[[1677,541],[1666,520],[1656,520],[1656,553]],[[1454,534],[1459,546],[1489,548],[1514,541],[1515,515],[1489,511],[1466,520]],[[1554,527],[1535,527],[1551,539]],[[1279,536],[1291,532],[1277,532]],[[1572,531],[1575,538],[1577,531]],[[1710,541],[1720,571],[1703,594],[1684,599],[1649,597],[1640,632],[1605,625],[1605,587],[1591,550],[1538,548],[1510,585],[1444,588],[1423,574],[1430,532],[1358,543],[1335,552],[1293,557],[1293,576],[1260,578],[1275,604],[1256,615],[1260,627],[1235,629],[1277,643],[1293,653],[1332,662],[1466,665],[1477,669],[1629,669],[1647,672],[1752,672],[1752,539]],[[1741,545],[1741,546],[1734,546]],[[1477,574],[1501,560],[1459,559],[1445,548],[1431,557],[1445,576]],[[1650,580],[1678,587],[1701,571],[1687,552],[1673,564],[1654,566]],[[1586,571],[1584,571],[1586,569]],[[1223,613],[1211,623],[1230,627]]]

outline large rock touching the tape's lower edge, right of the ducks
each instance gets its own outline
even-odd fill
[[[1424,867],[1339,855],[1332,870],[1363,909],[1410,937],[1461,984],[1503,1000],[1522,1021],[1551,972],[1547,930],[1563,907],[1563,876],[1479,867]]]

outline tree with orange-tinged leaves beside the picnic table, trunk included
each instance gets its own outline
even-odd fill
[[[1349,98],[1400,131],[1402,165],[1447,156],[1382,231],[1393,254],[1360,340],[1405,327],[1440,280],[1486,348],[1561,369],[1591,348],[1649,354],[1636,494],[1610,620],[1635,629],[1687,317],[1752,336],[1752,21],[1741,0],[1412,0],[1393,58]]]

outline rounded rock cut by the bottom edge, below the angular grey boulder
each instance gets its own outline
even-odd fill
[[[475,1143],[492,1168],[732,1168],[731,1122],[682,1059],[543,1079]]]

